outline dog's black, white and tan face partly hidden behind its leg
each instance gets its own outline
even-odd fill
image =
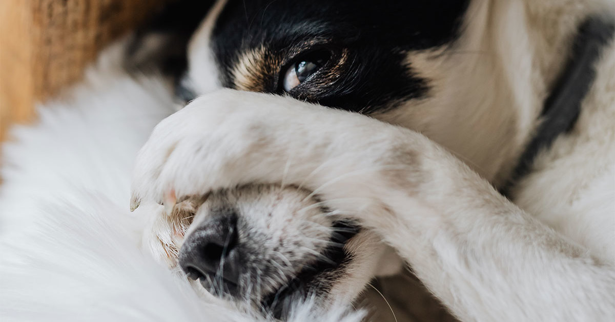
[[[443,52],[462,36],[468,2],[218,1],[192,36],[178,92],[288,95],[446,145],[459,133],[438,123],[450,97]],[[199,287],[276,315],[297,297],[351,301],[400,267],[378,236],[333,221],[335,209],[298,187],[240,187],[184,204],[154,223],[154,251]]]

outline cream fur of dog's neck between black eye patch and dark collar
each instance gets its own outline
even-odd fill
[[[422,132],[503,185],[536,131],[579,26],[599,12],[595,2],[473,1],[453,46],[409,55],[432,80],[432,97],[384,120]]]

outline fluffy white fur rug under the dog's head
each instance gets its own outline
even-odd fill
[[[12,129],[0,161],[2,321],[255,321],[142,252],[130,213],[133,159],[175,110],[159,79],[132,79],[108,50],[85,81]],[[297,304],[293,321],[359,321],[341,305]]]

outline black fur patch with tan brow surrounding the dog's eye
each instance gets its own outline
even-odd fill
[[[221,1],[207,47],[220,86],[258,92],[280,92],[288,57],[317,46],[339,49],[345,64],[335,71],[338,80],[327,79],[335,86],[298,98],[358,111],[366,102],[426,96],[429,81],[411,70],[407,52],[455,39],[467,2]]]

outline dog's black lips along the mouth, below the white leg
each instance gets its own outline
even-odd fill
[[[261,301],[261,307],[275,318],[288,314],[290,304],[295,300],[305,300],[309,296],[322,298],[330,291],[330,283],[335,276],[343,274],[344,265],[351,260],[351,254],[346,250],[346,243],[360,228],[349,221],[338,221],[333,224],[327,248],[320,252],[315,262],[305,267],[291,280],[276,291],[269,293]]]

